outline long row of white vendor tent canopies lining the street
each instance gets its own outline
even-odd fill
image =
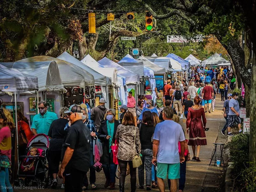
[[[218,63],[220,62],[220,63]],[[79,61],[67,52],[59,57],[36,56],[16,62],[0,63],[0,90],[2,92],[31,93],[37,90],[65,92],[64,86],[101,86],[102,96],[108,100],[108,85],[119,87],[118,96],[122,104],[127,103],[127,86],[140,84],[140,78],[150,82],[154,94],[155,75],[169,72],[187,71],[190,66],[200,65],[201,61],[193,55],[185,60],[171,53],[166,57],[140,56],[137,60],[127,54],[118,63],[104,57],[98,62],[90,55]],[[215,53],[202,65],[224,64],[229,61]],[[139,94],[144,90],[137,90]],[[109,106],[107,106],[109,107]]]

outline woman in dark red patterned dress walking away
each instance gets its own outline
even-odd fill
[[[199,153],[200,146],[207,145],[205,136],[205,126],[206,118],[204,113],[204,108],[202,108],[199,103],[200,98],[197,96],[194,98],[194,106],[188,108],[188,118],[187,118],[187,133],[189,130],[188,145],[192,146],[193,158],[192,160],[200,162]],[[203,118],[203,122],[202,122]]]

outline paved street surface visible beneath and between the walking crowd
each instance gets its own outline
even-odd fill
[[[186,178],[186,186],[184,191],[188,192],[220,192],[221,189],[220,181],[221,181],[221,170],[220,167],[214,167],[209,166],[209,162],[211,160],[212,152],[214,150],[214,145],[212,143],[214,142],[226,142],[226,136],[223,136],[219,129],[222,128],[225,124],[223,115],[222,115],[222,106],[223,101],[220,101],[220,94],[218,94],[215,104],[215,111],[211,114],[207,113],[207,124],[206,127],[209,128],[209,131],[206,132],[206,138],[207,138],[207,146],[202,146],[200,151],[200,160],[201,162],[195,162],[195,161],[189,161],[187,163],[187,178]],[[180,120],[180,124],[182,125],[183,129],[185,130],[185,119]],[[186,134],[186,139],[188,139],[188,134]],[[192,148],[189,147],[189,152],[191,155],[191,158],[193,157]],[[220,152],[220,151],[218,151]],[[101,171],[100,173],[96,174],[96,185],[99,191],[109,191],[108,189],[105,189],[103,187],[105,183],[105,177],[104,173]],[[63,191],[60,189],[60,183],[61,180],[59,180],[59,186],[58,189],[52,190],[52,189],[46,189],[49,192],[52,191]],[[125,190],[129,191],[130,189],[130,177],[126,177],[126,186]],[[137,179],[138,183],[138,179]],[[118,180],[116,181],[116,184],[118,184]],[[167,189],[167,182],[166,182],[166,191]],[[139,187],[139,184],[137,184],[137,187]],[[89,188],[90,189],[90,188]],[[116,186],[116,190],[118,190],[118,186]],[[29,189],[26,190],[15,190],[17,192],[21,191],[30,191]],[[37,189],[36,191],[43,191],[43,189]],[[45,190],[44,190],[45,191]],[[137,191],[144,191],[138,189]],[[153,191],[159,191],[158,189],[153,189]]]

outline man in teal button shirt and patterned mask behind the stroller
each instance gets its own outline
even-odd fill
[[[47,104],[45,101],[38,103],[39,114],[35,115],[31,125],[31,131],[34,135],[39,133],[48,134],[52,121],[58,119],[56,113],[47,111]]]

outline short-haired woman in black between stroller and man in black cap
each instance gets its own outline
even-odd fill
[[[53,182],[52,188],[56,188],[58,185],[57,174],[59,172],[61,149],[64,142],[64,137],[68,130],[64,130],[66,124],[68,123],[68,116],[65,111],[68,111],[67,107],[60,108],[60,118],[52,122],[48,137],[50,140],[50,147],[48,151],[48,162],[49,162],[49,173],[52,174]],[[61,185],[64,188],[64,180]]]

